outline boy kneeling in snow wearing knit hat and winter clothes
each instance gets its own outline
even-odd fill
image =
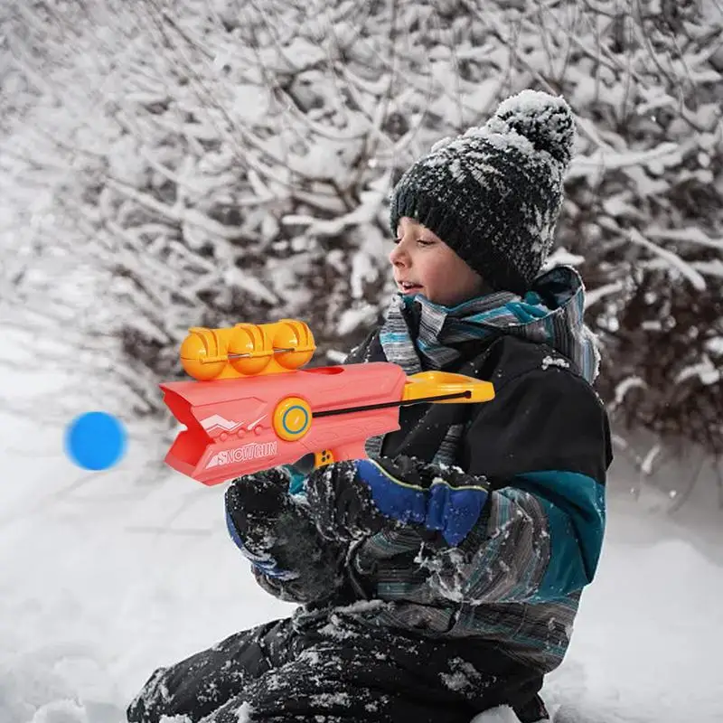
[[[258,583],[304,605],[156,671],[130,721],[547,718],[538,691],[596,570],[612,458],[580,278],[538,276],[573,138],[563,99],[523,91],[404,174],[399,294],[348,362],[465,373],[495,399],[402,408],[369,459],[231,484]]]

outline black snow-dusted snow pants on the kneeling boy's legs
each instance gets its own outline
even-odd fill
[[[299,630],[284,619],[155,671],[127,718],[470,723],[483,710],[510,705],[521,723],[533,723],[547,719],[541,685],[540,671],[484,641],[440,641],[347,620]]]

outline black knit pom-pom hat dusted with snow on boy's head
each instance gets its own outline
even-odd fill
[[[392,233],[415,219],[493,289],[523,294],[552,247],[574,140],[564,99],[523,90],[408,169],[392,193]]]

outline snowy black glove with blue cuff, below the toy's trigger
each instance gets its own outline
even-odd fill
[[[457,545],[479,518],[487,491],[483,477],[405,456],[334,463],[306,483],[318,530],[336,540],[412,525]]]

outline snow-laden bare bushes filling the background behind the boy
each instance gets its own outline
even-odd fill
[[[94,269],[69,272],[88,300],[79,334],[138,412],[158,411],[155,384],[179,373],[192,325],[298,316],[316,362],[358,341],[391,291],[399,174],[531,87],[577,114],[551,263],[587,279],[615,418],[723,445],[713,0],[19,0],[5,12],[23,121],[3,126],[3,192],[23,210],[5,280],[35,308],[39,289],[58,292],[58,269]]]

